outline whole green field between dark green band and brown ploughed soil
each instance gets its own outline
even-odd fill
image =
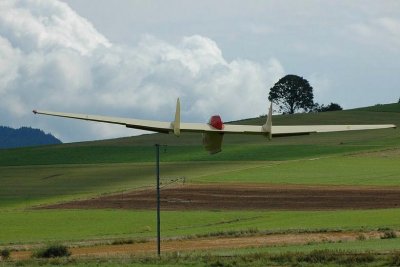
[[[172,162],[162,164],[161,175],[164,183],[185,177],[190,183],[400,186],[399,161],[400,149],[278,162]],[[155,182],[155,166],[150,163],[33,165],[0,170],[0,208],[27,208],[149,188]]]

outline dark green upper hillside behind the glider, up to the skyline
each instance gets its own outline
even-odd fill
[[[373,111],[370,109],[373,108]],[[390,112],[388,111],[390,110]],[[265,117],[238,121],[264,123]],[[275,125],[293,124],[396,124],[400,104],[357,110],[273,116]],[[119,126],[115,126],[119,127]],[[145,134],[111,140],[62,144],[50,147],[9,149],[0,154],[0,166],[154,162],[154,144],[166,145],[164,162],[288,160],[352,153],[400,145],[399,129],[312,134],[273,138],[225,135],[223,152],[210,156],[202,147],[201,134]],[[288,151],[292,151],[288,153]]]

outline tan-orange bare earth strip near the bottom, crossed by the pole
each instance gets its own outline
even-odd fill
[[[162,252],[201,251],[210,249],[246,248],[275,245],[307,244],[310,242],[339,242],[354,241],[363,235],[367,239],[380,238],[382,233],[371,232],[326,232],[326,233],[293,233],[271,234],[249,237],[213,237],[196,238],[189,240],[162,241]],[[70,249],[73,257],[110,257],[129,256],[155,253],[155,242],[145,242],[122,245],[98,245],[90,247],[76,247]],[[32,252],[16,251],[12,253],[13,259],[26,259]]]

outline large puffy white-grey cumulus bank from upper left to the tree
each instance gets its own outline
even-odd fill
[[[211,39],[171,44],[146,35],[111,43],[67,4],[0,4],[1,125],[31,125],[64,141],[132,135],[120,126],[34,117],[33,108],[172,120],[177,97],[186,121],[265,113],[268,88],[284,75],[277,59],[227,61]]]

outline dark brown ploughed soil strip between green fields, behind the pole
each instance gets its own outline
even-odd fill
[[[154,190],[44,208],[154,209]],[[161,191],[163,210],[337,210],[400,206],[400,188],[293,185],[184,185]],[[43,207],[42,207],[43,208]]]

